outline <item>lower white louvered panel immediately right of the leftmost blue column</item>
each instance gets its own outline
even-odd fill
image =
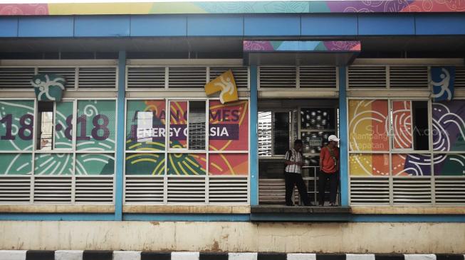
[[[163,177],[126,177],[125,203],[163,202]]]

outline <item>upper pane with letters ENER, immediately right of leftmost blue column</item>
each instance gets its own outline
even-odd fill
[[[164,100],[127,101],[127,151],[164,151],[164,131],[166,129],[165,105],[166,102]],[[150,112],[152,113],[150,114]],[[142,118],[143,115],[148,115],[149,117],[144,119]],[[139,135],[137,135],[138,131]],[[144,131],[148,131],[148,133],[144,133]],[[149,134],[152,137],[140,137],[143,134]]]

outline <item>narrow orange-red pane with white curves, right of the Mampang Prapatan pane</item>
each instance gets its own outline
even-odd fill
[[[392,131],[395,149],[413,148],[411,101],[392,101]]]

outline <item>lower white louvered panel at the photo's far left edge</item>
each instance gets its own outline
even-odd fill
[[[30,176],[1,176],[0,204],[29,202],[31,193]]]

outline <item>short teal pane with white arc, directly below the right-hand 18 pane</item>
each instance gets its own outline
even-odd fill
[[[113,153],[76,154],[76,175],[110,175],[115,173]]]

